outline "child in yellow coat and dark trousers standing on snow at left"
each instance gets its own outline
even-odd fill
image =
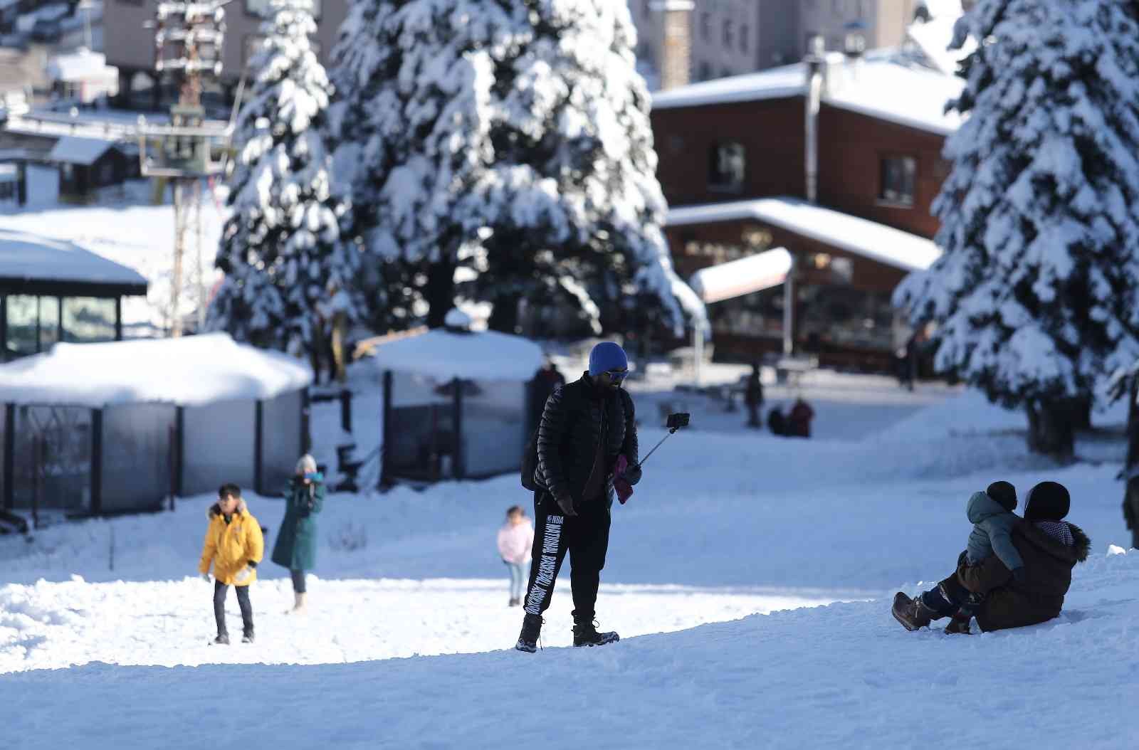
[[[210,564],[214,569],[214,619],[218,620],[218,637],[214,643],[229,643],[226,629],[226,594],[230,586],[237,592],[237,604],[241,608],[241,643],[253,643],[253,605],[249,604],[249,584],[257,578],[257,563],[264,554],[265,541],[261,535],[261,524],[249,513],[241,500],[241,488],[222,485],[218,491],[218,502],[206,513],[210,526],[202,547],[202,563],[198,570],[210,580]]]

